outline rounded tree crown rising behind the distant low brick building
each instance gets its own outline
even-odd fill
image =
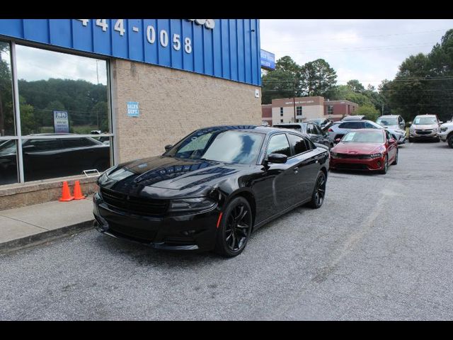
[[[301,69],[302,93],[306,96],[323,96],[336,84],[335,70],[323,59],[307,62]]]

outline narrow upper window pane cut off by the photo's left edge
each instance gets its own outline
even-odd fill
[[[13,135],[16,135],[16,133],[14,129],[11,47],[9,42],[0,40],[0,137]]]

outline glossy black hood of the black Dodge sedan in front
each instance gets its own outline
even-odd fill
[[[101,183],[106,188],[130,193],[145,191],[151,196],[159,195],[165,189],[181,194],[195,193],[202,188],[211,188],[219,179],[236,174],[248,165],[224,164],[205,160],[188,160],[158,156],[120,164],[106,171],[107,181]],[[174,193],[173,193],[174,194]]]

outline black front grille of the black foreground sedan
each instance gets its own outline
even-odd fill
[[[101,196],[110,207],[140,215],[164,215],[168,209],[167,200],[127,196],[105,188],[101,188]]]

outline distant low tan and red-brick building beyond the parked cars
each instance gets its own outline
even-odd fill
[[[278,123],[302,123],[313,118],[340,120],[353,115],[358,104],[352,101],[329,101],[322,96],[277,98],[272,104],[261,106],[261,120],[269,125]]]

